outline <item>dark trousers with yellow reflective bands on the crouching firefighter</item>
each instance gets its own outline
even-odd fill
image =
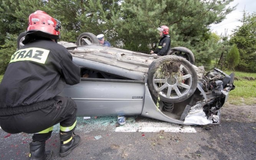
[[[60,132],[72,133],[76,128],[77,107],[74,100],[67,97],[54,97],[50,107],[28,113],[1,116],[1,128],[7,133],[34,133],[33,142],[46,141],[51,137],[53,126],[60,125]]]

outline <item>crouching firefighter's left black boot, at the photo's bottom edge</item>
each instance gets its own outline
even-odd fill
[[[50,160],[53,156],[53,151],[45,152],[45,142],[31,142],[30,144],[30,160]]]

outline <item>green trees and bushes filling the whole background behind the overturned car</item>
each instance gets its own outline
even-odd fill
[[[157,28],[170,28],[171,47],[186,47],[195,65],[256,73],[256,13],[241,12],[243,23],[228,37],[213,33],[235,10],[233,0],[2,0],[0,1],[0,74],[17,48],[17,37],[26,31],[28,16],[43,10],[61,21],[61,40],[76,42],[79,34],[104,34],[113,47],[148,53],[159,42]],[[171,8],[171,9],[170,9]],[[219,34],[219,35],[218,35]],[[221,34],[221,35],[220,35]]]

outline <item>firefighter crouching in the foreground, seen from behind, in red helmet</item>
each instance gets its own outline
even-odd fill
[[[80,142],[76,103],[58,96],[65,84],[80,82],[80,69],[62,45],[60,22],[43,11],[29,16],[23,47],[12,55],[0,84],[0,126],[7,133],[33,133],[30,159],[51,159],[45,141],[60,124],[59,155],[68,155]]]

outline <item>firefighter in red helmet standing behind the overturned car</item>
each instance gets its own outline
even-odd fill
[[[151,50],[150,54],[156,55],[167,55],[167,52],[170,50],[171,47],[171,39],[169,34],[169,28],[167,26],[160,26],[157,28],[160,31],[160,37],[162,37],[159,41],[158,48],[156,50]]]

